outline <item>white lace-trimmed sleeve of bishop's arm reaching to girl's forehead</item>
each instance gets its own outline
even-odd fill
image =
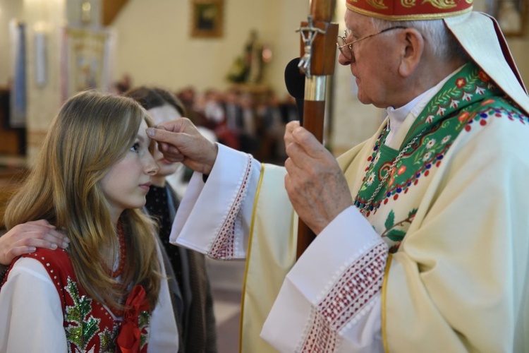
[[[170,241],[211,258],[245,258],[260,164],[219,144],[207,183],[195,173],[178,207]]]

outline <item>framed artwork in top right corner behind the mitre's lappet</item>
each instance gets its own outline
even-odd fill
[[[487,7],[487,12],[498,20],[504,35],[524,35],[527,0],[487,0]]]

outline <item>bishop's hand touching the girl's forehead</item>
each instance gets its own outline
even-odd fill
[[[182,162],[195,172],[209,174],[217,159],[218,147],[202,136],[187,118],[178,118],[147,128],[147,136],[170,162]]]

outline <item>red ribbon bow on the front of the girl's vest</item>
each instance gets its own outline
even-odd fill
[[[123,353],[140,352],[140,324],[138,315],[142,311],[149,310],[149,302],[145,298],[145,289],[136,285],[128,295],[123,311],[123,323],[118,335],[118,347]]]

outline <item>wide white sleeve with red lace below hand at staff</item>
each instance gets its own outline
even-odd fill
[[[344,210],[288,273],[261,336],[280,352],[383,352],[387,252],[356,208]]]

